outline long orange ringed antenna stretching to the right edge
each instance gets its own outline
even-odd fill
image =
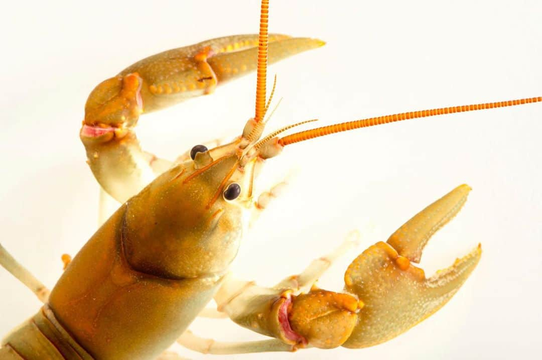
[[[405,112],[405,113],[399,113],[399,114],[393,114],[393,115],[384,115],[384,116],[379,116],[376,118],[349,121],[347,123],[322,126],[322,127],[314,128],[312,130],[296,132],[294,134],[280,138],[279,144],[282,146],[286,146],[286,145],[290,145],[294,143],[299,143],[308,139],[313,139],[320,136],[333,134],[336,132],[354,130],[360,127],[369,127],[369,126],[382,125],[382,124],[387,124],[387,123],[394,123],[395,121],[402,121],[406,119],[417,119],[417,118],[424,118],[424,117],[435,116],[435,115],[453,114],[453,113],[475,111],[475,110],[486,110],[486,109],[492,109],[495,107],[531,104],[532,102],[542,102],[542,97],[498,101],[498,102],[486,102],[484,104],[475,104],[475,105],[441,107],[441,108],[431,109],[431,110],[421,110],[421,111],[412,111],[412,112]]]

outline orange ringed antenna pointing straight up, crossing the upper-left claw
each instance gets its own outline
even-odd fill
[[[256,79],[256,123],[263,120],[266,108],[266,80],[267,80],[267,24],[269,18],[269,0],[262,0],[260,10],[260,36],[258,38],[258,72]]]

